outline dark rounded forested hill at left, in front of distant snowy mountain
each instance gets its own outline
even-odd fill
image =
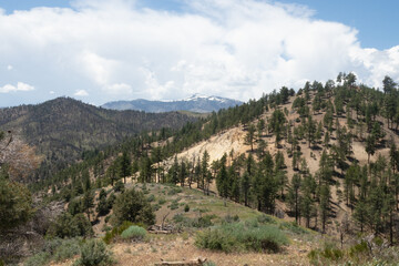
[[[178,129],[195,117],[176,112],[112,111],[59,98],[38,105],[0,109],[0,127],[21,134],[43,154],[39,177],[81,158],[83,151],[103,149],[143,131]]]

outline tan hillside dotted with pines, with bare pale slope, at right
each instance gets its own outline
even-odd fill
[[[392,96],[358,86],[351,79],[349,74],[336,85],[307,83],[298,93],[283,88],[186,125],[167,142],[151,144],[146,156],[132,154],[132,161],[139,162],[134,178],[195,185],[323,233],[337,234],[335,222],[348,217],[352,231],[374,228],[375,224],[352,215],[360,212],[356,209],[359,201],[375,201],[361,196],[371,184],[388,178],[388,187],[395,188],[399,139],[396,122],[387,119]],[[147,164],[152,167],[144,170]],[[382,178],[382,173],[388,176]],[[243,182],[248,182],[248,188]],[[308,204],[303,205],[305,200]],[[323,218],[321,211],[326,212]]]

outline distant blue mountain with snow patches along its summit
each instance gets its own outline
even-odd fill
[[[193,96],[180,101],[150,101],[137,99],[133,101],[108,102],[102,105],[104,109],[112,110],[137,110],[152,113],[162,113],[171,111],[190,111],[195,113],[217,112],[221,109],[234,108],[243,102],[219,96],[203,96],[194,94]]]

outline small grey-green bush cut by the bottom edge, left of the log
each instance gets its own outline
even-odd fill
[[[113,263],[111,254],[102,241],[90,239],[82,246],[81,257],[74,266],[98,266]]]

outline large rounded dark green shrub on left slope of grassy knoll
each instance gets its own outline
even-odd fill
[[[113,206],[113,224],[121,225],[123,221],[154,224],[155,215],[151,204],[141,192],[134,188],[119,195]]]

